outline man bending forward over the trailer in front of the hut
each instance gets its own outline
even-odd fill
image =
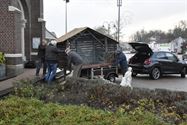
[[[73,77],[80,77],[82,65],[84,62],[82,57],[78,53],[71,51],[70,47],[68,47],[65,52],[68,55],[68,65],[74,65]]]

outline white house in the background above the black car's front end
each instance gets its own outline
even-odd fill
[[[182,53],[182,46],[186,40],[182,37],[176,38],[171,41],[171,51],[175,53]]]

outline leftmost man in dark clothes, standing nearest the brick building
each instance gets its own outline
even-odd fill
[[[36,76],[39,76],[40,69],[43,65],[43,76],[46,74],[46,62],[45,62],[45,49],[46,49],[47,42],[43,40],[39,47],[38,47],[38,55],[37,55],[37,62],[36,62]]]

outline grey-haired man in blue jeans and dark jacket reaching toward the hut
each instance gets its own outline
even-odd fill
[[[55,78],[57,65],[58,65],[58,53],[63,53],[63,50],[60,50],[56,47],[57,42],[55,40],[51,41],[46,47],[45,59],[47,63],[48,72],[44,80],[51,84],[51,81]]]

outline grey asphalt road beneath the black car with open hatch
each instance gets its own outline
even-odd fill
[[[120,81],[121,77],[117,78],[117,82],[120,83]],[[181,78],[178,74],[165,75],[158,80],[152,80],[148,75],[137,75],[132,78],[132,86],[138,88],[160,88],[187,92],[187,75],[186,78]]]

